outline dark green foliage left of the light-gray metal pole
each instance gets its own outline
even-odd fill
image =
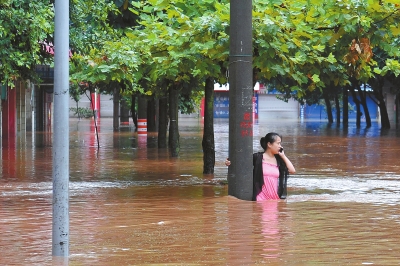
[[[43,42],[53,32],[53,8],[46,1],[8,0],[0,6],[0,83],[38,80],[37,64],[51,62]]]

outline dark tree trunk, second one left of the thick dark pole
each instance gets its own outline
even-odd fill
[[[178,127],[178,89],[171,87],[169,89],[169,148],[171,156],[179,156],[179,127]]]

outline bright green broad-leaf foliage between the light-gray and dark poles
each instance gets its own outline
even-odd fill
[[[75,53],[71,59],[72,81],[84,81],[96,87],[116,82],[123,84],[124,95],[140,92],[162,96],[168,88],[162,84],[174,84],[185,98],[181,111],[192,112],[192,105],[199,102],[199,97],[189,100],[188,95],[195,93],[187,90],[202,91],[202,81],[209,76],[226,83],[229,8],[228,2],[223,2],[114,1],[114,14],[129,10],[137,16],[134,21],[137,26],[124,27],[122,31],[107,30],[111,34],[107,37],[112,41],[103,40],[99,45],[81,49],[84,54]],[[80,4],[82,7],[77,10],[85,13],[84,7],[91,3]],[[107,12],[110,14],[112,9]],[[82,20],[81,25],[87,16],[76,15]],[[97,17],[94,25],[90,23],[93,29],[108,23]],[[119,26],[113,24],[107,28]]]

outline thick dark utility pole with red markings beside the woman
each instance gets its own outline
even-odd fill
[[[253,194],[251,11],[251,0],[231,0],[228,193],[243,200],[251,200]]]

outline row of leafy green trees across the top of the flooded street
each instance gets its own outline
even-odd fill
[[[159,100],[159,143],[166,143],[168,113],[173,156],[179,103],[204,95],[204,173],[213,173],[213,84],[226,83],[229,72],[229,1],[70,2],[71,83],[86,84],[75,88]],[[1,82],[35,79],[35,64],[51,60],[43,47],[52,43],[52,19],[51,1],[0,1]],[[272,84],[302,104],[325,100],[330,122],[334,100],[345,124],[350,92],[367,126],[368,85],[382,128],[390,128],[383,88],[399,98],[399,24],[398,0],[254,0],[253,82]]]

